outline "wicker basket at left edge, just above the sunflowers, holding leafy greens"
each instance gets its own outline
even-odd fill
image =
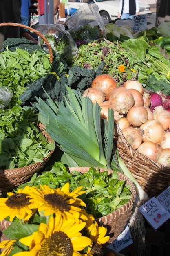
[[[49,142],[53,141],[51,137],[44,131],[42,124],[39,124],[39,129],[42,130],[44,136]],[[53,141],[54,142],[54,141]],[[29,166],[21,168],[0,170],[0,192],[8,191],[13,187],[19,186],[28,180],[32,175],[42,169],[42,167],[48,162],[53,150],[49,152],[49,155],[43,158],[43,162],[36,162]]]

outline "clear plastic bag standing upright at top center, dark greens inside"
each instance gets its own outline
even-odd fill
[[[82,5],[67,18],[66,25],[75,42],[91,42],[106,38],[104,22],[96,4]]]

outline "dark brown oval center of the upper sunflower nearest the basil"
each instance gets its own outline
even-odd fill
[[[57,193],[51,193],[48,195],[44,195],[44,199],[51,204],[53,208],[57,208],[60,211],[69,211],[69,205],[62,195],[58,195]]]

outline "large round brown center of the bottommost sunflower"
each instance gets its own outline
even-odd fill
[[[54,232],[44,240],[39,256],[72,256],[73,245],[70,238],[62,231]]]

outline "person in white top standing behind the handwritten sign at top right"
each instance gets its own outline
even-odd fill
[[[133,15],[139,14],[139,0],[120,0],[118,18],[131,19]]]

